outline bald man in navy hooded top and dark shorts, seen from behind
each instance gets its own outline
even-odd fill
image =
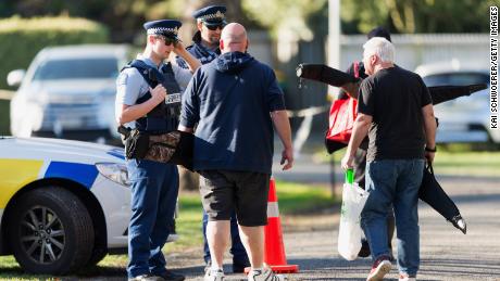
[[[284,280],[264,268],[264,226],[273,159],[273,124],[284,144],[283,169],[293,165],[290,124],[274,72],[246,53],[240,24],[227,25],[222,54],[195,73],[183,97],[179,129],[196,124],[193,167],[209,214],[207,237],[212,268],[204,280],[223,280],[223,255],[236,209],[241,241],[250,255],[248,280]]]

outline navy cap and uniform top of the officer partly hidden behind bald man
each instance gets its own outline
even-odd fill
[[[192,13],[192,17],[197,22],[203,23],[205,26],[221,26],[226,25],[225,20],[226,7],[224,5],[210,5],[200,9]],[[215,60],[221,54],[218,47],[214,50],[207,48],[201,43],[201,33],[198,30],[192,37],[192,44],[186,47],[186,50],[200,61],[201,64],[208,64]],[[186,61],[183,58],[176,58],[177,65],[183,68],[188,68]]]

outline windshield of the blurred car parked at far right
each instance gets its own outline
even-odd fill
[[[489,84],[488,75],[474,72],[435,74],[426,76],[423,79],[427,87],[443,85],[465,86],[472,84]]]

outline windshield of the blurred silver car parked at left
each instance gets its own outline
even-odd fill
[[[116,78],[118,61],[114,58],[90,58],[46,61],[36,69],[33,80]]]

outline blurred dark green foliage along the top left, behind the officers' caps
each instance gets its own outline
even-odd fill
[[[225,4],[230,21],[237,21],[248,27],[255,22],[248,20],[242,11],[241,1],[230,0],[2,0],[0,16],[22,17],[68,15],[86,17],[107,25],[114,42],[132,42],[142,31],[146,21],[159,18],[180,18],[186,31],[195,28],[191,13],[204,5]],[[189,35],[189,33],[187,33]]]

